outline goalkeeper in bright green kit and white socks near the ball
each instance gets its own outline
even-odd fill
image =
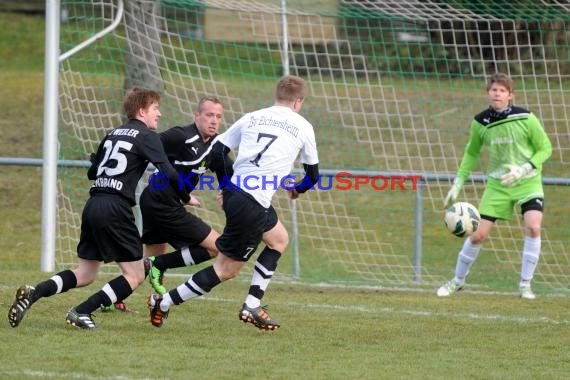
[[[540,229],[544,209],[542,164],[552,146],[538,118],[530,111],[512,105],[513,80],[495,74],[487,83],[489,108],[471,122],[469,141],[461,165],[449,190],[444,207],[457,199],[461,187],[475,167],[481,150],[487,147],[487,185],[479,204],[481,224],[467,237],[459,251],[455,277],[443,284],[437,295],[447,297],[461,290],[483,241],[497,220],[511,220],[519,206],[524,219],[524,245],[519,283],[520,296],[534,299],[531,280],[540,257]]]

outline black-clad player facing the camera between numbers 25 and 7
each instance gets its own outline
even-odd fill
[[[211,143],[215,139],[223,116],[220,100],[207,96],[198,102],[194,122],[184,127],[173,127],[160,133],[160,140],[179,175],[186,181],[190,193],[206,171],[215,171],[218,180],[231,170],[233,161],[224,156],[220,162],[212,162]],[[192,205],[200,206],[195,197]],[[188,212],[177,199],[173,189],[157,189],[147,186],[139,200],[143,219],[142,241],[145,256],[150,256],[150,281],[160,292],[164,289],[161,277],[167,268],[196,265],[212,257],[218,250],[215,241],[220,235],[196,215]],[[176,251],[162,255],[170,244]],[[166,291],[164,289],[163,293]]]

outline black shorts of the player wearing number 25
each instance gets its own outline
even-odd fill
[[[142,259],[140,234],[129,201],[113,194],[95,194],[87,200],[77,255],[105,263]]]

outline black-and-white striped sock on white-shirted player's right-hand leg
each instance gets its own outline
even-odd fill
[[[259,254],[253,269],[249,292],[245,299],[245,304],[249,308],[255,309],[261,306],[261,299],[265,295],[265,290],[267,290],[275,269],[277,269],[280,258],[281,253],[269,247],[265,247]]]

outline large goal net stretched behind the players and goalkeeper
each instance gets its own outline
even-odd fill
[[[106,131],[124,121],[130,86],[162,94],[159,130],[189,124],[197,101],[215,95],[224,105],[223,131],[245,112],[271,105],[281,75],[302,76],[309,85],[302,114],[315,126],[326,175],[294,204],[284,191],[276,194],[291,237],[278,275],[433,287],[452,277],[462,245],[444,227],[443,198],[470,121],[486,107],[485,80],[504,72],[515,80],[515,103],[540,118],[553,144],[535,284],[563,291],[570,280],[570,5],[492,3],[125,1],[119,26],[60,66],[59,158],[88,159]],[[120,0],[61,6],[62,52],[122,10]],[[460,200],[478,204],[484,157]],[[59,169],[59,268],[76,263],[89,186],[85,167]],[[221,231],[215,192],[197,195],[204,207],[193,212]],[[515,289],[522,238],[515,209],[512,222],[499,221],[485,242],[470,284]]]

